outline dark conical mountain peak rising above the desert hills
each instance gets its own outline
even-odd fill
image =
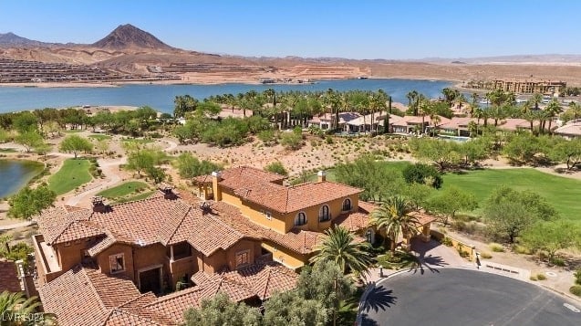
[[[107,37],[92,44],[93,47],[105,48],[158,48],[171,49],[173,47],[161,42],[157,37],[131,24],[119,25]]]

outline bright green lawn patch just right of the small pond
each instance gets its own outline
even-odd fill
[[[48,178],[48,188],[57,195],[63,195],[88,183],[92,179],[88,173],[89,166],[88,160],[68,159],[56,174]]]

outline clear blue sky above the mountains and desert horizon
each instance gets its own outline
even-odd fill
[[[0,33],[93,43],[121,24],[210,53],[473,58],[581,54],[578,0],[0,0]]]

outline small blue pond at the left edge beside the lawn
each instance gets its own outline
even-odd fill
[[[0,198],[16,193],[42,169],[41,163],[0,159]]]

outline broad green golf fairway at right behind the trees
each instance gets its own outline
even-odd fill
[[[581,181],[553,174],[545,174],[534,169],[489,169],[465,174],[445,174],[442,189],[456,186],[465,189],[483,203],[497,187],[507,185],[515,190],[532,190],[542,195],[555,206],[566,219],[581,223]],[[478,213],[476,210],[474,213]]]

